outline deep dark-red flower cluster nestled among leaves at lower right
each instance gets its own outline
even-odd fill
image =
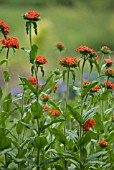
[[[91,127],[93,127],[96,124],[96,121],[94,119],[90,120],[88,119],[85,124],[82,126],[84,131],[89,131]]]

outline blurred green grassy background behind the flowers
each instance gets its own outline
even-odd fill
[[[58,51],[55,43],[62,41],[65,51],[62,57],[79,56],[75,49],[87,45],[98,51],[102,45],[114,49],[114,1],[113,0],[0,0],[0,19],[10,26],[10,35],[17,37],[20,47],[30,49],[23,14],[35,10],[41,14],[38,35],[33,42],[39,46],[38,55],[49,60],[46,72],[57,66]],[[0,34],[2,38],[2,34]],[[0,54],[1,60],[5,51]],[[0,73],[4,66],[1,67]],[[18,75],[30,76],[30,64],[21,49],[10,51],[10,85],[15,87]],[[2,76],[1,85],[4,85]]]

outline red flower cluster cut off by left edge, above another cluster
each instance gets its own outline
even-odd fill
[[[9,34],[10,32],[9,26],[2,20],[0,20],[0,30],[2,31],[4,35]]]

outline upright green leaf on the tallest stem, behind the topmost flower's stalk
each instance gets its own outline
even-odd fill
[[[31,51],[30,51],[30,62],[34,64],[34,60],[36,59],[37,56],[37,51],[38,51],[38,46],[33,44]]]

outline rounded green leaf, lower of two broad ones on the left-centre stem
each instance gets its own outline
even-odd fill
[[[33,141],[33,145],[36,148],[44,148],[47,145],[46,137],[44,136],[36,136]]]

